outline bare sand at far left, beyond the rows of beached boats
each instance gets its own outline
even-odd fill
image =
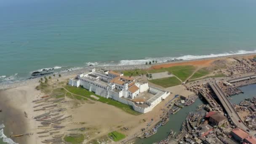
[[[32,120],[34,112],[31,109],[31,101],[40,93],[40,91],[35,90],[34,86],[0,91],[0,109],[3,109],[0,120],[5,125],[4,133],[7,137],[34,131],[36,126]],[[27,112],[28,118],[24,117],[24,111]],[[12,139],[19,144],[33,144],[31,142],[36,141],[34,136],[13,137]]]

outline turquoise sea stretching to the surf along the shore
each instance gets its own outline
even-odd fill
[[[255,0],[1,0],[0,80],[256,50]],[[219,55],[215,55],[219,56]],[[163,58],[165,57],[165,58]],[[166,58],[167,57],[167,58]],[[122,61],[128,60],[128,61]],[[17,75],[14,75],[17,74]]]

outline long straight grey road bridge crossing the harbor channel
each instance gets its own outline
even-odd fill
[[[235,111],[234,107],[230,103],[230,101],[227,99],[227,97],[224,95],[224,93],[221,91],[219,86],[216,83],[209,83],[211,88],[213,89],[214,93],[216,93],[216,96],[219,98],[221,104],[223,105],[224,109],[226,110],[227,114],[229,115],[230,119],[232,120],[233,124],[237,126],[238,128],[243,129],[243,131],[248,130],[249,128],[245,123],[243,123],[243,120],[240,119],[237,112]],[[239,123],[239,120],[241,123]],[[249,133],[251,136],[254,136],[255,132],[249,130]]]

